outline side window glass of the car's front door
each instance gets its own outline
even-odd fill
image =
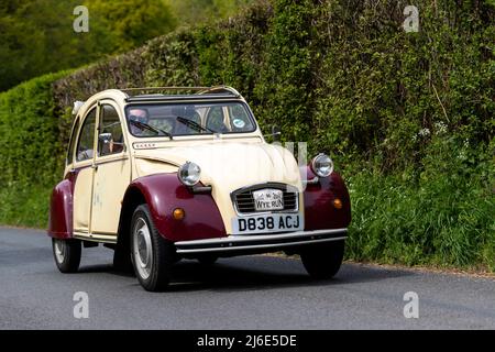
[[[122,153],[124,141],[122,125],[116,108],[103,105],[100,109],[101,121],[98,135],[98,156]]]

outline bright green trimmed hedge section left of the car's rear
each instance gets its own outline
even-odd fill
[[[62,175],[52,82],[47,75],[0,95],[0,223],[45,227],[52,185]]]

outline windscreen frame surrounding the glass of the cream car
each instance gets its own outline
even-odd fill
[[[173,138],[205,138],[205,136],[211,136],[211,135],[242,135],[242,134],[252,134],[254,132],[256,132],[258,130],[258,124],[256,119],[254,118],[253,112],[251,111],[251,108],[249,107],[249,105],[243,101],[243,100],[215,100],[215,101],[209,101],[209,100],[190,100],[190,101],[153,101],[153,102],[132,102],[132,103],[128,103],[124,107],[124,120],[125,120],[125,125],[128,129],[128,132],[130,135],[132,135],[133,138],[140,139],[140,140],[144,140],[144,139],[169,139],[167,135],[165,134],[156,134],[156,135],[136,135],[134,133],[132,133],[132,129],[131,129],[131,123],[129,122],[129,110],[130,109],[135,109],[135,108],[148,108],[148,107],[160,107],[160,106],[188,106],[188,105],[210,105],[211,107],[213,106],[227,106],[227,105],[231,105],[231,103],[238,103],[241,105],[245,112],[248,118],[250,119],[250,122],[252,124],[252,129],[249,131],[229,131],[229,132],[208,132],[205,131],[204,133],[179,133],[179,134],[175,134],[175,133],[170,133]],[[177,117],[175,117],[177,118]],[[184,117],[183,117],[184,118]],[[180,122],[177,122],[180,123]]]

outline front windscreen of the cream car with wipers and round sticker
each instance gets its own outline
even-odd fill
[[[132,105],[125,108],[128,128],[139,138],[254,132],[243,102]]]

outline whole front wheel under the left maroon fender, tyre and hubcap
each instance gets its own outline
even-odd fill
[[[174,257],[174,244],[158,233],[147,206],[139,206],[131,222],[131,258],[144,289],[160,292],[167,287]]]

